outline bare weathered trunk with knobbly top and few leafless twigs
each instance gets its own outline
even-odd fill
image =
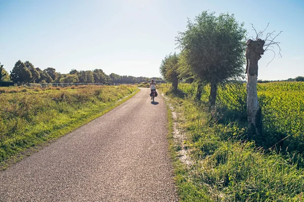
[[[247,116],[248,116],[248,137],[255,139],[262,133],[261,108],[257,99],[257,72],[258,60],[264,53],[264,40],[257,39],[247,41],[246,49],[246,73],[247,73]]]

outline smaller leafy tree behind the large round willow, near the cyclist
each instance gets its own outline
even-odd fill
[[[167,81],[172,82],[173,90],[177,90],[178,86],[178,67],[178,55],[176,53],[166,56],[160,66],[161,74]]]

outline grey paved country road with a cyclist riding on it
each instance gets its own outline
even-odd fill
[[[0,201],[177,201],[164,100],[148,94],[0,172]]]

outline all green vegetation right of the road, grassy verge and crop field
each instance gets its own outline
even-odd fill
[[[255,141],[246,136],[245,84],[220,88],[216,110],[211,111],[208,86],[200,102],[194,98],[194,84],[178,88],[172,92],[170,85],[161,86],[177,113],[175,125],[185,136],[171,141],[182,201],[304,199],[303,83],[258,85],[264,127]],[[179,158],[183,153],[187,163]]]

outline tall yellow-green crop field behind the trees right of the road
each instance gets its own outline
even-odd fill
[[[262,109],[263,135],[257,145],[304,152],[304,83],[272,82],[258,84],[258,100]],[[180,91],[193,96],[196,86],[180,84]],[[205,86],[202,103],[208,105],[209,86]],[[217,120],[238,122],[247,127],[246,84],[234,83],[218,88]]]

